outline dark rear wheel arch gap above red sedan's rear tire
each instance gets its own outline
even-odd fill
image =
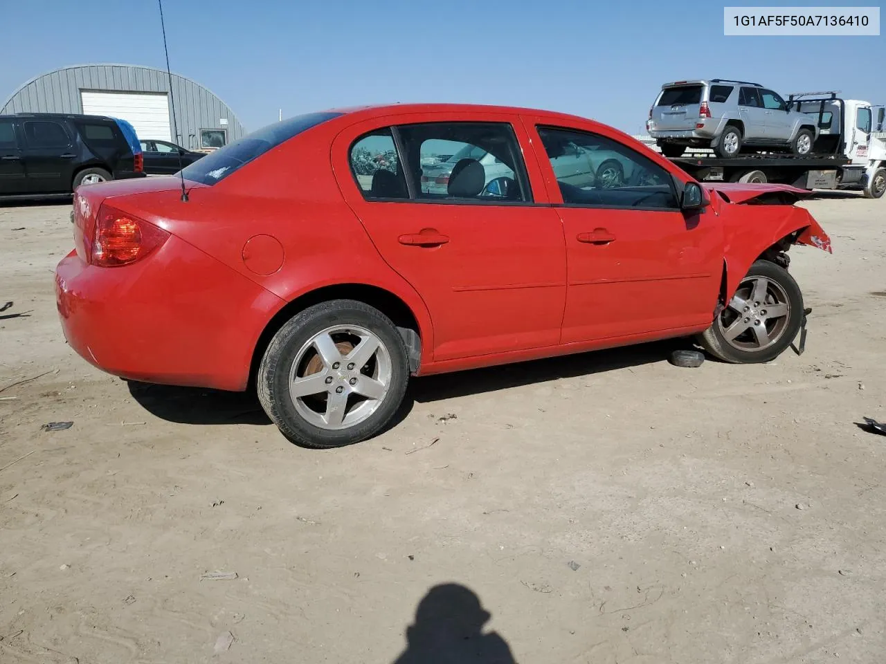
[[[254,384],[261,358],[268,349],[271,339],[287,320],[291,320],[293,316],[310,306],[340,299],[362,302],[391,319],[406,344],[410,373],[415,374],[418,371],[422,363],[423,350],[425,347],[430,347],[428,343],[431,336],[430,319],[422,317],[424,312],[416,316],[413,307],[390,290],[365,283],[338,283],[302,293],[287,302],[268,320],[253,348],[253,359],[249,370],[250,383]],[[423,320],[419,320],[420,317]]]

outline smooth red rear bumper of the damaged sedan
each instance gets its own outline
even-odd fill
[[[244,390],[253,350],[284,304],[177,237],[130,266],[90,266],[69,253],[56,268],[68,344],[130,380]]]

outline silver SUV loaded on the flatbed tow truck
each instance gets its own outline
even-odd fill
[[[688,146],[712,148],[719,157],[742,148],[805,155],[819,134],[810,116],[772,90],[724,79],[665,83],[646,128],[665,157],[680,157]]]

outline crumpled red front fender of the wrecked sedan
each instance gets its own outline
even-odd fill
[[[791,244],[807,244],[833,253],[831,240],[812,214],[793,205],[722,205],[726,245],[726,292],[728,302],[750,266],[767,250],[786,251]]]

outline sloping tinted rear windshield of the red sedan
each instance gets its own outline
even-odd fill
[[[292,136],[299,135],[326,120],[338,118],[339,115],[341,113],[306,113],[268,125],[219,150],[210,152],[206,157],[185,167],[182,174],[188,180],[213,185],[271,148],[288,141]]]

